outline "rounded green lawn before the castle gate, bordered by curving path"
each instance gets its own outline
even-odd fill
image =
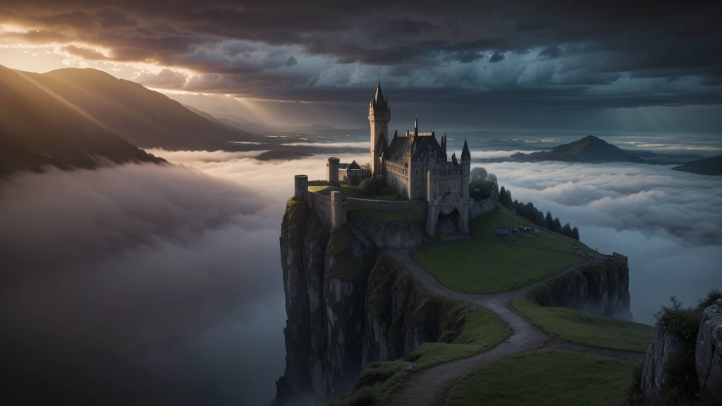
[[[444,285],[467,293],[521,288],[586,261],[576,254],[482,238],[425,246],[414,258]]]

